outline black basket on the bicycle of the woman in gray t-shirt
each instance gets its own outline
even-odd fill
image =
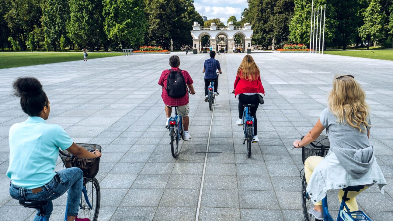
[[[303,137],[301,137],[302,140]],[[306,161],[307,157],[310,156],[325,157],[327,152],[329,152],[329,148],[330,142],[327,136],[319,136],[315,141],[312,141],[310,144],[307,144],[303,146],[303,148],[301,148],[303,164]]]

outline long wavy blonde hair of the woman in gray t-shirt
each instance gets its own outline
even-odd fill
[[[366,95],[360,84],[352,77],[345,76],[333,80],[333,89],[327,100],[338,122],[348,123],[365,133],[366,127],[371,126],[367,121],[370,108],[365,99]]]

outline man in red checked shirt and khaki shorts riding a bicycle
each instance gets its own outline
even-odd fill
[[[169,58],[169,65],[171,66],[171,69],[173,70],[179,70],[180,66],[180,58],[176,55],[173,55],[171,58]],[[177,113],[178,115],[182,116],[183,118],[183,127],[184,127],[184,140],[188,141],[191,139],[191,135],[188,133],[188,124],[189,124],[189,117],[188,113],[190,111],[190,107],[188,105],[188,93],[184,95],[184,97],[180,98],[173,98],[169,97],[167,90],[164,88],[164,85],[167,85],[167,79],[170,71],[169,70],[164,70],[162,71],[160,80],[158,80],[158,84],[162,86],[162,100],[164,101],[165,104],[165,113],[167,115],[167,121],[165,126],[168,126],[168,120],[171,118],[171,113],[172,113],[172,107],[177,106]],[[187,71],[182,70],[181,71],[185,84],[187,84],[188,89],[190,90],[191,94],[195,94],[195,90],[193,87],[193,79],[191,79],[191,76]]]

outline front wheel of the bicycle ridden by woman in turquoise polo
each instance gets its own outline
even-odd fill
[[[93,179],[87,179],[83,187],[86,189],[86,193],[82,192],[78,218],[88,218],[90,221],[97,221],[101,203],[99,183],[94,177]]]

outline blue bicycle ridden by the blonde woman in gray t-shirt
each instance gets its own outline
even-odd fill
[[[303,137],[301,138],[303,139]],[[319,136],[315,141],[311,142],[310,144],[304,146],[302,148],[302,157],[303,157],[303,164],[306,161],[307,157],[310,156],[320,156],[325,157],[326,154],[329,152],[330,142],[327,136]],[[312,214],[309,214],[310,208],[314,208],[314,204],[307,193],[307,183],[305,179],[305,175],[301,176],[303,179],[301,185],[301,198],[302,198],[302,205],[303,205],[303,215],[305,221],[317,221]],[[370,217],[368,217],[363,211],[350,211],[348,206],[346,205],[345,201],[348,201],[347,198],[348,191],[356,191],[359,192],[362,190],[364,186],[348,186],[343,188],[344,195],[342,197],[342,202],[340,206],[340,210],[338,212],[337,221],[372,221]],[[334,221],[332,216],[329,214],[328,204],[327,204],[327,197],[322,199],[322,208],[323,208],[323,220],[324,221]],[[346,209],[346,211],[344,210]]]

